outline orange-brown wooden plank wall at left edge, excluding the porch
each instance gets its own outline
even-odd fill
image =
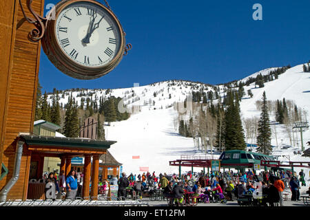
[[[33,18],[27,1],[22,0],[23,8]],[[32,2],[34,12],[43,15],[43,8],[43,0]],[[34,25],[25,21],[19,0],[0,1],[0,28],[0,165],[8,168],[1,190],[12,177],[17,136],[33,129],[41,44],[28,40]],[[19,179],[7,199],[26,199],[29,167],[30,152],[24,146]]]

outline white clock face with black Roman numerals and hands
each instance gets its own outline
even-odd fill
[[[105,8],[87,1],[61,10],[55,33],[63,53],[84,67],[107,65],[121,48],[121,30],[115,19]]]

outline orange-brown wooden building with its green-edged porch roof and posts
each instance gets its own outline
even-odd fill
[[[26,16],[33,19],[29,2],[21,0]],[[43,17],[44,0],[33,0],[31,6]],[[72,157],[85,157],[85,186],[90,177],[97,182],[99,157],[114,142],[34,135],[41,43],[28,39],[35,26],[26,21],[19,0],[0,1],[0,28],[0,196],[8,191],[7,200],[28,199],[30,177],[41,179],[44,157],[61,158],[60,170],[66,174]],[[21,148],[21,157],[17,157]],[[6,190],[14,179],[16,160],[20,162],[18,179]],[[83,188],[83,197],[95,197],[96,186]]]

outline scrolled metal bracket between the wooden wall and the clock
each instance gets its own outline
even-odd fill
[[[45,24],[47,19],[41,17],[39,14],[34,12],[34,10],[32,10],[31,7],[32,1],[33,0],[27,0],[27,6],[35,19],[27,17],[27,15],[25,14],[25,10],[23,9],[23,4],[21,3],[21,0],[19,0],[19,5],[21,5],[21,12],[23,12],[23,16],[25,17],[26,21],[34,24],[34,26],[36,27],[28,34],[28,39],[30,39],[30,41],[33,42],[38,42],[43,38],[45,34],[45,28],[46,28]]]

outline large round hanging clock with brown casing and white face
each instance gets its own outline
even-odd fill
[[[46,22],[43,50],[64,74],[79,79],[99,78],[123,58],[125,33],[121,23],[97,1],[61,1]]]

